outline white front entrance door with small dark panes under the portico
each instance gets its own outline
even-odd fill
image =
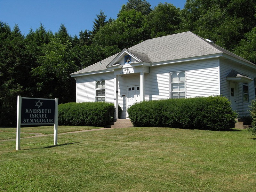
[[[127,109],[134,103],[140,102],[140,85],[127,87],[127,104],[126,104],[126,118],[128,118]]]

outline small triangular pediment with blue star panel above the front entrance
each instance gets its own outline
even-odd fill
[[[145,53],[140,53],[132,51],[129,49],[123,49],[114,60],[112,60],[108,66],[116,66],[117,64],[124,66],[125,64],[135,64],[135,63],[149,63],[149,59]]]

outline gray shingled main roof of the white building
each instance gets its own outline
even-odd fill
[[[190,31],[148,39],[137,45],[130,47],[129,49],[127,49],[127,51],[131,52],[132,54],[134,54],[134,56],[138,57],[139,59],[149,63],[179,60],[190,57],[212,55],[217,53],[225,53],[229,56],[235,57],[236,59],[243,60],[247,63],[251,63],[235,55],[234,53],[231,53],[223,49],[222,47],[216,44],[211,44],[205,41],[205,39],[203,39],[200,36],[197,36],[196,34]],[[101,64],[100,62],[95,63],[87,68],[72,73],[72,75],[92,71],[106,70],[106,66],[111,61],[113,61],[118,54],[119,53],[111,57],[108,57],[105,60],[102,60]]]

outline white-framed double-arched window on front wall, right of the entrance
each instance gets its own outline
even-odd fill
[[[185,71],[171,73],[170,97],[185,98]]]

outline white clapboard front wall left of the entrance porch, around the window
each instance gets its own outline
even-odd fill
[[[76,102],[95,101],[95,81],[106,80],[106,102],[114,102],[114,73],[80,76],[76,79]]]

